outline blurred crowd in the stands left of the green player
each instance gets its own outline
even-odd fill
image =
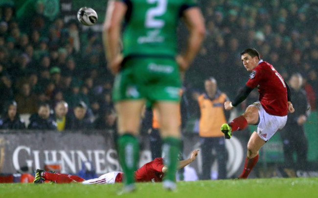
[[[77,21],[49,19],[43,1],[36,2],[20,18],[13,4],[0,7],[0,128],[20,122],[19,114],[31,115],[24,125],[32,129],[59,128],[63,118],[62,129],[114,126],[112,75],[100,34],[82,34]],[[59,104],[62,117],[56,115]],[[18,113],[15,119],[10,109]]]

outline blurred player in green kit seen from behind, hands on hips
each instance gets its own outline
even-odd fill
[[[186,49],[178,55],[179,18],[188,27],[189,36]],[[121,35],[122,25],[125,27]],[[139,151],[136,136],[146,100],[159,112],[164,164],[169,170],[163,187],[176,188],[180,72],[187,70],[194,59],[204,32],[204,19],[194,0],[111,0],[108,4],[103,43],[108,67],[116,75],[113,100],[118,114],[118,155],[126,191],[135,189]]]

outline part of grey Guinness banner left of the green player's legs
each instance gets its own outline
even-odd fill
[[[110,133],[15,131],[0,133],[1,173],[44,169],[45,161],[60,162],[62,173],[77,173],[91,161],[97,174],[119,171]]]

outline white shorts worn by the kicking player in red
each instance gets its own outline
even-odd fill
[[[260,102],[255,102],[250,106],[255,106],[258,109],[259,123],[257,126],[257,134],[266,142],[273,137],[278,129],[282,129],[285,126],[287,116],[273,116],[268,114]]]

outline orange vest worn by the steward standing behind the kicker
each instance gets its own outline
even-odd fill
[[[227,95],[222,93],[213,100],[202,94],[198,98],[200,105],[201,118],[199,123],[199,135],[201,137],[221,137],[221,125],[227,123],[224,114],[224,102]]]

